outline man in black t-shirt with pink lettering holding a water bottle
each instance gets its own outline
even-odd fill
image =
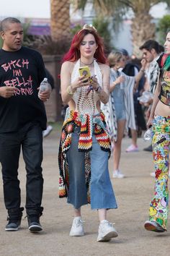
[[[15,18],[1,21],[0,50],[0,161],[4,184],[4,203],[8,210],[5,230],[19,229],[23,207],[20,207],[18,179],[19,155],[22,154],[27,171],[26,204],[29,230],[42,230],[42,130],[46,129],[43,101],[50,90],[40,93],[38,88],[45,77],[42,56],[22,46],[23,29]]]

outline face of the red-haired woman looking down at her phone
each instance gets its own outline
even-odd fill
[[[90,58],[91,56],[94,56],[97,47],[98,46],[94,38],[94,35],[85,35],[84,39],[81,41],[80,44],[80,54],[85,58]]]

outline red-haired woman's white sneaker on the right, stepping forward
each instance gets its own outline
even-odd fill
[[[99,234],[97,237],[97,242],[107,242],[112,237],[117,237],[117,231],[113,227],[112,223],[109,223],[109,221],[102,221],[102,223],[99,224]]]

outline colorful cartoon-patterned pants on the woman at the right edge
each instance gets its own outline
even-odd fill
[[[155,116],[153,120],[152,146],[156,182],[154,197],[151,200],[149,209],[149,220],[156,221],[166,229],[169,210],[170,116]]]

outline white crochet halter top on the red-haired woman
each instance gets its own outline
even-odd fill
[[[79,67],[80,67],[80,59],[76,62],[73,72],[71,74],[71,83],[76,80],[77,77],[80,76],[79,74]],[[97,61],[94,60],[94,74],[96,74],[97,81],[99,85],[102,87],[102,72],[97,64]],[[87,95],[88,86],[84,86],[82,88],[77,88],[76,92],[73,94],[73,101],[76,104],[76,111],[79,114],[91,114],[96,115],[99,114],[97,110],[97,101],[99,101],[99,96],[95,93],[94,90],[91,90],[90,93]]]

